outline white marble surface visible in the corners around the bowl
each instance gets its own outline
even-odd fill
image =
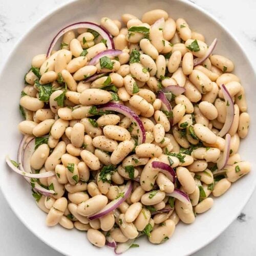
[[[49,11],[70,0],[0,0],[0,69],[20,36]],[[256,1],[191,0],[213,14],[240,40],[256,67]],[[4,86],[4,84],[1,84]],[[18,198],[17,198],[18,200]],[[256,255],[256,191],[241,215],[214,242],[194,256]],[[60,256],[16,218],[0,192],[0,254]],[[35,224],[36,227],[36,224]]]

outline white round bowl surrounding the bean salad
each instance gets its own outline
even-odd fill
[[[255,97],[253,90],[256,77],[252,66],[237,40],[210,14],[187,1],[164,0],[129,0],[101,1],[82,0],[67,4],[43,18],[19,42],[9,56],[0,76],[1,84],[1,179],[0,184],[10,207],[17,217],[38,238],[57,251],[67,255],[83,253],[95,255],[113,255],[113,250],[92,246],[86,239],[86,233],[75,229],[66,230],[60,226],[49,228],[45,225],[46,214],[35,204],[31,188],[25,180],[7,168],[4,157],[9,154],[15,159],[17,147],[22,136],[17,131],[20,120],[18,101],[24,83],[24,74],[29,70],[34,55],[46,53],[53,36],[66,25],[78,21],[99,22],[102,16],[120,19],[122,13],[132,13],[138,17],[145,11],[161,8],[174,18],[183,17],[193,30],[201,32],[210,42],[217,37],[215,53],[223,54],[236,65],[234,73],[241,78],[246,91],[248,109],[251,115],[250,133],[241,142],[240,154],[243,160],[251,162],[252,170],[256,166],[255,150],[252,142],[256,141],[254,118]],[[215,199],[215,204],[208,212],[198,215],[191,225],[179,223],[174,236],[161,245],[153,245],[145,238],[140,238],[139,248],[128,250],[125,255],[187,255],[193,253],[227,228],[239,215],[255,187],[256,173],[251,172],[234,183],[225,195]],[[136,242],[137,243],[137,242]]]

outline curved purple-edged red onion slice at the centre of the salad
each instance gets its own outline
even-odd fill
[[[143,126],[142,121],[140,120],[139,116],[133,112],[130,108],[128,108],[125,105],[121,105],[119,103],[109,102],[102,106],[100,106],[99,110],[110,110],[118,112],[128,118],[130,118],[133,122],[135,122],[139,129],[139,138],[138,138],[138,144],[144,143],[146,140],[146,132],[145,128]]]

